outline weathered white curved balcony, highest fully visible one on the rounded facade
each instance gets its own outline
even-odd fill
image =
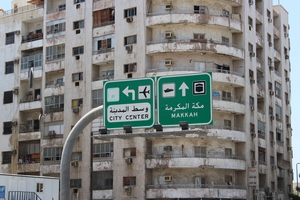
[[[183,20],[184,19],[184,20]],[[158,13],[148,13],[146,26],[154,27],[169,24],[195,24],[210,25],[230,28],[232,32],[242,32],[243,23],[238,14],[223,15],[220,12],[209,12],[207,14],[194,13],[194,11],[171,10]]]

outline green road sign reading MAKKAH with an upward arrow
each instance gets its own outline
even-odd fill
[[[158,77],[157,113],[164,127],[212,124],[212,73]]]

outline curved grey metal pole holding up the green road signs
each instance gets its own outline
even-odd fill
[[[102,115],[103,106],[86,113],[72,128],[63,147],[60,166],[60,200],[70,200],[70,162],[72,150],[79,134],[94,119]]]

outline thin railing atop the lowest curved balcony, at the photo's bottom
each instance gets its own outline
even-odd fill
[[[210,185],[210,184],[164,184],[164,185],[147,185],[146,189],[170,189],[170,188],[209,188],[209,189],[240,189],[246,190],[243,185]]]

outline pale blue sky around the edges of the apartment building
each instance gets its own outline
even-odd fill
[[[291,83],[292,83],[292,95],[291,95],[291,106],[292,106],[292,145],[293,145],[293,170],[294,170],[294,182],[297,182],[296,175],[296,164],[300,163],[300,78],[297,77],[300,75],[300,67],[298,63],[300,62],[300,1],[299,0],[273,0],[274,5],[281,4],[289,12],[289,36],[291,40],[291,52],[290,52],[290,61],[291,61]],[[0,9],[10,10],[11,1],[10,0],[0,0]],[[298,54],[298,55],[297,55]],[[298,168],[300,164],[298,165]],[[298,170],[300,173],[300,168]],[[299,178],[300,183],[300,178]]]

